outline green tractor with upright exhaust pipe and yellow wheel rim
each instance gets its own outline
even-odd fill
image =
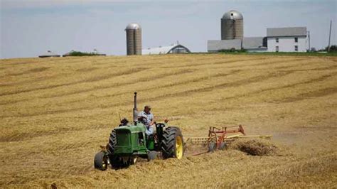
[[[121,124],[112,129],[107,146],[95,155],[95,168],[105,171],[112,168],[124,168],[137,162],[138,158],[148,161],[162,158],[182,158],[184,153],[183,135],[176,126],[156,123],[154,134],[146,134],[144,118],[137,117],[137,92],[134,92],[134,121],[129,124],[122,119]]]

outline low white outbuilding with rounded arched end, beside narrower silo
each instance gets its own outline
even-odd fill
[[[169,46],[159,46],[158,48],[146,48],[141,50],[143,55],[162,55],[162,54],[179,54],[179,53],[191,53],[191,50],[184,45],[172,44]]]

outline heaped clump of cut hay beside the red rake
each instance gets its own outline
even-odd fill
[[[239,139],[232,142],[230,148],[243,151],[252,156],[275,156],[279,154],[277,146],[263,139]]]

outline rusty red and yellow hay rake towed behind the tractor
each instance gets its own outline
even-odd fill
[[[246,135],[242,125],[222,126],[221,128],[210,126],[207,137],[190,137],[185,142],[188,151],[208,147],[207,151],[193,153],[191,156],[198,156],[203,153],[224,150],[232,141],[242,138],[270,139],[270,135]]]

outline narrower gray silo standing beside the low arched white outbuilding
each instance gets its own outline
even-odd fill
[[[130,23],[127,32],[127,55],[141,55],[141,27],[138,23]]]

